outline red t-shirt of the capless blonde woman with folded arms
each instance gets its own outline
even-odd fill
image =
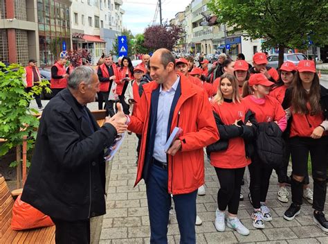
[[[219,114],[221,121],[225,125],[232,125],[236,119],[245,122],[245,115],[248,106],[241,103],[227,103],[221,105],[212,103],[212,110]],[[228,148],[210,154],[210,164],[217,168],[243,168],[250,164],[250,159],[246,158],[245,143],[242,137],[235,137],[229,140]]]

